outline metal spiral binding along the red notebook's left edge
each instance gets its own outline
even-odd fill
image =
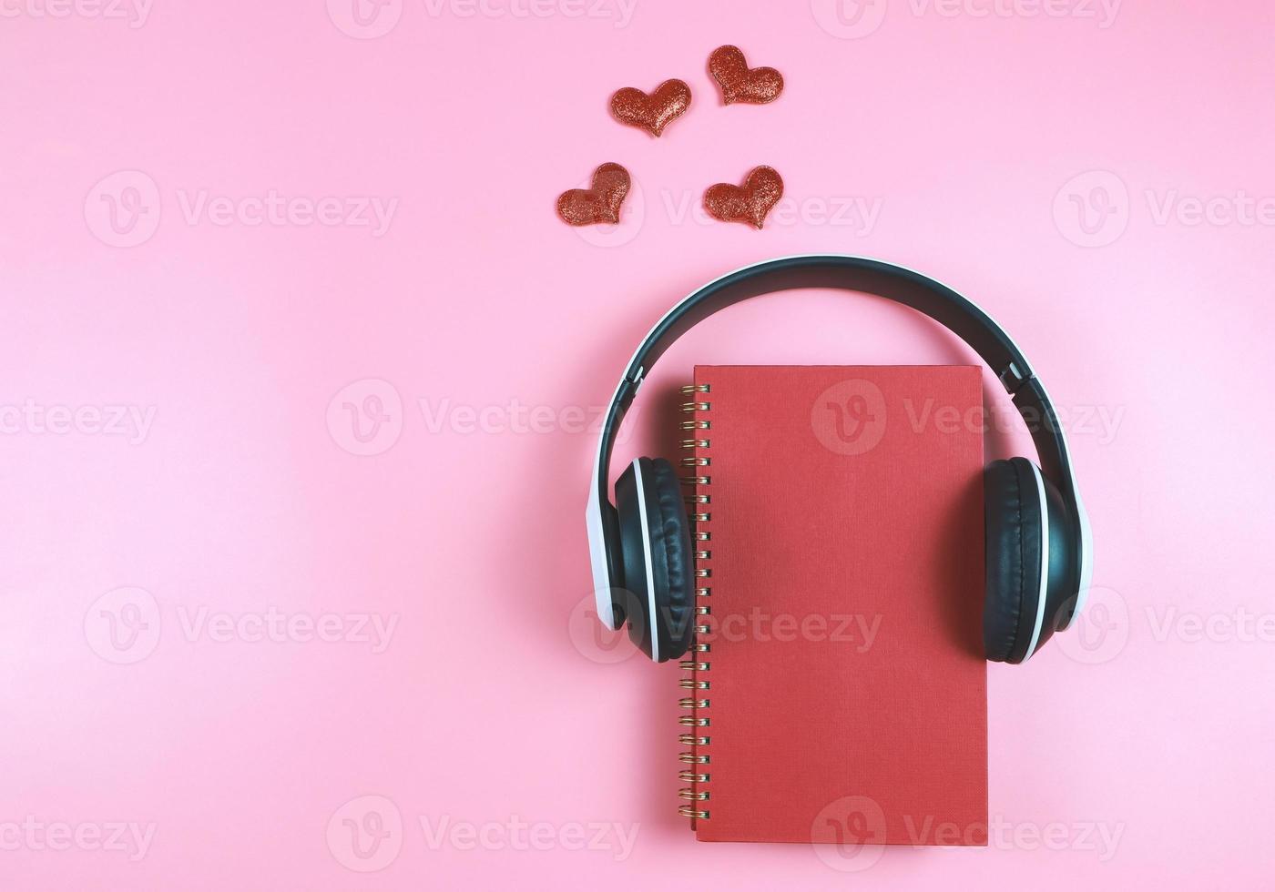
[[[705,715],[710,702],[708,697],[709,680],[705,678],[709,670],[709,661],[704,658],[704,654],[710,652],[710,647],[706,641],[700,640],[700,636],[709,632],[709,627],[703,624],[700,617],[708,617],[713,613],[708,601],[713,591],[710,584],[706,582],[706,580],[713,577],[713,570],[704,563],[713,558],[713,552],[706,544],[713,542],[713,534],[706,529],[709,521],[713,520],[711,511],[708,507],[713,503],[713,500],[706,492],[708,486],[713,482],[711,475],[706,470],[711,466],[711,459],[705,455],[711,449],[713,442],[708,433],[703,433],[704,431],[711,431],[711,421],[703,415],[713,409],[713,404],[701,396],[708,392],[709,385],[706,384],[688,384],[682,387],[682,395],[687,398],[687,401],[682,403],[681,409],[683,413],[692,415],[692,418],[681,422],[678,426],[683,432],[694,432],[682,435],[681,447],[688,450],[691,455],[682,457],[681,465],[682,468],[694,470],[688,475],[682,477],[681,480],[682,486],[686,487],[686,503],[691,506],[687,515],[695,524],[695,531],[691,534],[691,538],[695,540],[696,626],[695,637],[692,638],[694,644],[691,645],[692,659],[681,661],[682,672],[690,673],[690,675],[682,678],[678,682],[678,687],[687,692],[687,694],[677,701],[678,709],[688,710],[687,715],[678,716],[677,724],[686,730],[678,734],[677,739],[682,745],[690,747],[687,752],[678,754],[677,761],[691,766],[677,772],[677,779],[690,785],[677,793],[687,803],[686,805],[680,805],[677,813],[683,818],[690,818],[692,826],[696,821],[709,819],[709,808],[705,804],[709,800],[709,791],[705,789],[705,785],[710,780],[710,772],[706,766],[711,763],[711,757],[704,752],[711,742],[710,735],[705,730],[711,723],[709,716]]]

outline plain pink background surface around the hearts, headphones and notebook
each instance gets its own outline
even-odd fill
[[[3,8],[0,884],[1267,882],[1275,214],[1227,208],[1275,195],[1275,11],[389,0],[360,31],[328,6]],[[776,103],[719,103],[725,42],[783,71]],[[662,139],[609,120],[612,90],[669,76],[695,99]],[[644,200],[616,232],[560,223],[604,161]],[[787,219],[688,215],[759,163]],[[397,205],[380,234],[185,206],[272,190]],[[871,224],[838,212],[856,199]],[[578,414],[683,293],[806,251],[917,266],[1001,319],[1075,413],[1098,543],[1085,627],[989,669],[992,847],[857,875],[695,844],[678,673],[585,615]],[[968,358],[881,301],[755,301],[666,357],[618,457],[668,451],[695,362]],[[368,443],[347,401],[384,417]],[[144,435],[93,421],[120,410],[153,412]],[[261,640],[272,608],[347,618]],[[358,615],[397,623],[386,647]],[[361,858],[347,818],[390,836]],[[144,851],[94,845],[113,822]],[[594,822],[631,849],[585,827],[576,850]]]

